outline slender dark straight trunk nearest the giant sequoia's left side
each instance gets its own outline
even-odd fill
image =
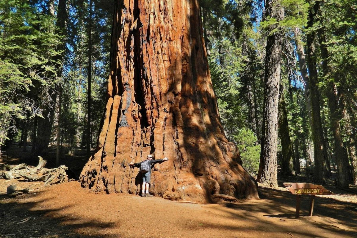
[[[87,90],[87,156],[91,148],[91,81],[92,81],[92,0],[89,1],[88,90]]]

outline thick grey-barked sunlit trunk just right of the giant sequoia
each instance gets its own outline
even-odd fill
[[[284,17],[284,9],[279,6],[277,1],[266,2],[265,12],[267,16],[275,18],[277,21],[281,21]],[[276,25],[273,25],[270,30],[276,27]],[[257,180],[269,186],[277,185],[277,123],[281,34],[280,31],[277,31],[268,35],[266,44],[262,146]]]

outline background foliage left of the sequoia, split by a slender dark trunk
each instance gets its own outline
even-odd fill
[[[75,148],[85,146],[88,47],[92,49],[91,65],[91,131],[93,144],[100,130],[105,106],[106,82],[109,75],[110,41],[113,16],[111,0],[93,1],[92,40],[89,42],[89,1],[75,0],[69,10],[67,44],[71,47],[65,54],[64,97],[62,97],[62,141]],[[70,123],[71,126],[66,123]]]

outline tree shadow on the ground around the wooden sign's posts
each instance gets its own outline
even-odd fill
[[[289,234],[291,237],[357,237],[356,203],[316,196],[313,216],[308,217],[310,196],[303,195],[300,218],[296,219],[295,195],[262,187],[259,191],[262,200],[224,203],[214,209],[221,218],[235,218],[246,223],[222,225],[211,220],[205,222],[204,226],[217,230],[229,229],[237,234],[255,234],[250,237],[290,237]],[[196,222],[202,221],[197,219]]]

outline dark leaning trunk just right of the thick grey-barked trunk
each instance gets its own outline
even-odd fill
[[[281,154],[282,154],[282,173],[285,175],[296,175],[294,166],[294,156],[292,153],[292,146],[289,133],[288,118],[286,116],[285,98],[283,93],[283,86],[280,84],[279,97],[279,134],[281,140]]]

